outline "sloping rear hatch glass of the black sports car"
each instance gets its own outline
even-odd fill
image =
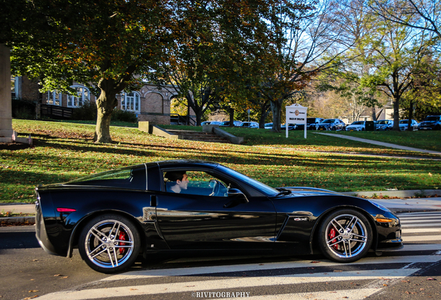
[[[65,183],[65,185],[87,185],[106,188],[126,188],[130,190],[146,190],[147,176],[146,167],[137,165],[115,169],[112,171],[97,173],[80,177]]]

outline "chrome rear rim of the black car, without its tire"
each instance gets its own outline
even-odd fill
[[[132,256],[134,238],[130,228],[115,219],[105,219],[92,226],[85,237],[89,261],[101,268],[114,268]]]

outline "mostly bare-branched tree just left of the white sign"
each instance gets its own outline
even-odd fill
[[[273,7],[270,24],[277,42],[266,60],[270,72],[261,74],[260,84],[261,94],[270,101],[273,131],[280,130],[284,101],[333,67],[346,49],[338,44],[342,31],[334,8],[331,1],[286,1]]]

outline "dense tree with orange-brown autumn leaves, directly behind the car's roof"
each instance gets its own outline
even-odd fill
[[[230,94],[248,88],[249,58],[268,44],[264,15],[272,2],[182,1],[175,10],[184,34],[168,49],[153,80],[171,85],[186,99],[196,114],[196,124],[207,110],[232,100]]]

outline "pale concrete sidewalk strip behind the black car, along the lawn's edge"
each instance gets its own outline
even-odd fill
[[[372,199],[386,206],[394,213],[416,212],[427,210],[441,210],[441,190],[404,190],[404,191],[377,191],[377,192],[345,192],[348,196],[372,197],[374,194],[382,197],[399,197],[398,199]],[[439,195],[440,197],[404,199],[415,194],[426,196]],[[402,198],[401,198],[402,197]],[[11,213],[35,214],[35,204],[0,203],[0,211]],[[34,224],[35,217],[0,217],[0,224],[25,223]]]

